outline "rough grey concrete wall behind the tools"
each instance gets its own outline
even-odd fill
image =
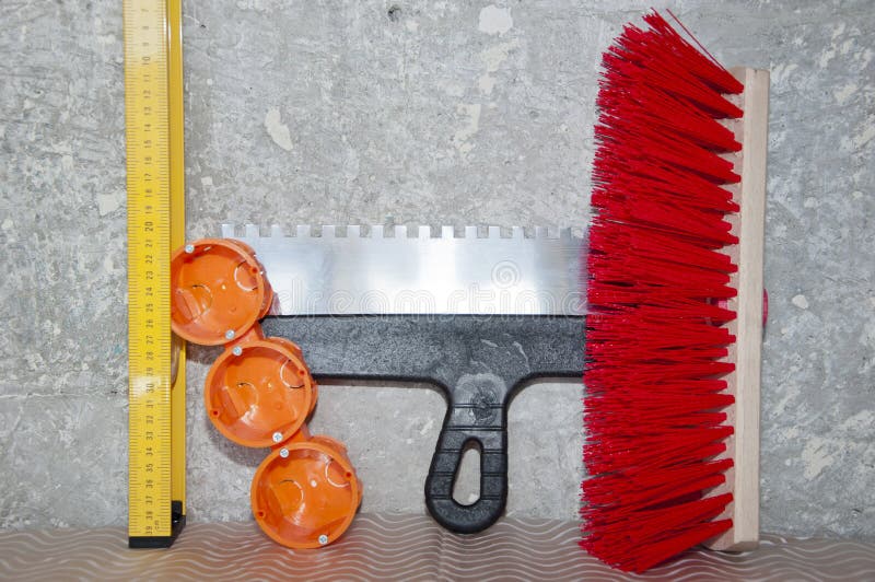
[[[223,221],[576,226],[599,53],[653,1],[184,3],[188,234]],[[875,536],[875,7],[673,2],[772,71],[762,528]],[[120,2],[0,3],[0,527],[127,519]],[[191,350],[189,519],[249,519]],[[581,388],[511,408],[508,513],[575,515]],[[423,512],[444,403],[330,385],[369,511]]]

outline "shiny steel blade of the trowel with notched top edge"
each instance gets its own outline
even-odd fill
[[[252,246],[276,291],[272,314],[583,315],[585,238],[522,228],[222,225]],[[392,232],[390,232],[392,231]]]

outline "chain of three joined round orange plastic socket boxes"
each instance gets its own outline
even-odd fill
[[[301,348],[261,331],[273,301],[264,267],[241,242],[203,238],[174,253],[171,277],[174,333],[225,348],[207,374],[210,421],[237,444],[273,449],[253,479],[256,522],[291,548],[330,544],[352,522],[362,485],[346,446],[307,430],[318,386]]]

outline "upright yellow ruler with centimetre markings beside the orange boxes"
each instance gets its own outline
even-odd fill
[[[131,546],[154,547],[172,543],[174,522],[179,522],[173,515],[174,501],[182,508],[185,494],[184,453],[180,459],[174,459],[173,441],[177,431],[184,431],[184,418],[183,427],[177,429],[173,418],[172,400],[178,398],[172,398],[174,342],[170,325],[171,248],[177,243],[173,238],[179,238],[184,231],[180,219],[172,222],[172,212],[182,208],[182,201],[174,198],[183,196],[182,191],[174,191],[182,178],[172,176],[172,168],[178,171],[180,165],[174,156],[182,155],[172,148],[176,132],[182,131],[180,127],[173,127],[173,123],[180,121],[180,113],[176,112],[179,119],[173,119],[171,110],[173,91],[180,91],[180,86],[175,86],[178,79],[172,82],[168,33],[174,19],[168,20],[166,0],[124,0],[122,5],[128,187],[128,534]],[[178,0],[171,8],[178,12]],[[184,398],[184,370],[180,376]],[[184,438],[184,432],[180,434]],[[182,486],[174,478],[174,469],[178,473],[174,465],[179,463]],[[180,508],[177,512],[184,513]]]

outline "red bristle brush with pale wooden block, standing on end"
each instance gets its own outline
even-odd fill
[[[581,546],[633,572],[758,540],[769,91],[644,21],[599,82],[581,509]]]

